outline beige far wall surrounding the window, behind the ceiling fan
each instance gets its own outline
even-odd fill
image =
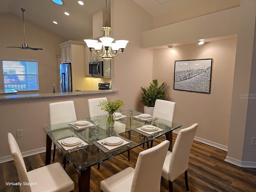
[[[39,93],[52,92],[52,84],[58,83],[56,55],[61,54],[58,44],[66,39],[25,20],[26,43],[30,47],[43,48],[43,50],[6,48],[22,46],[24,42],[22,18],[13,14],[0,14],[0,26],[0,59],[38,60]],[[2,67],[0,71],[0,79],[2,79]],[[0,89],[3,89],[2,80],[0,80]]]

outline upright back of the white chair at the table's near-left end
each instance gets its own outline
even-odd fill
[[[23,182],[29,183],[28,176],[27,176],[27,169],[26,169],[24,159],[22,157],[20,148],[19,148],[16,140],[11,133],[8,133],[8,142],[9,142],[10,149],[12,152],[12,157],[14,159],[14,163],[16,165],[16,169],[18,172],[19,182],[20,183],[23,183]],[[29,185],[21,185],[20,192],[31,192],[31,188]]]

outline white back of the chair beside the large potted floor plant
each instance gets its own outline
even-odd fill
[[[175,106],[175,102],[157,99],[154,106],[153,116],[173,121]]]

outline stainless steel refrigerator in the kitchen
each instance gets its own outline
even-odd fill
[[[72,92],[71,63],[60,64],[60,92]]]

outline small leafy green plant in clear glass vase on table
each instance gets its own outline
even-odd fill
[[[115,123],[115,113],[120,107],[124,104],[120,99],[116,101],[103,101],[100,102],[98,106],[101,106],[101,109],[108,112],[107,122],[108,127],[113,127]]]

